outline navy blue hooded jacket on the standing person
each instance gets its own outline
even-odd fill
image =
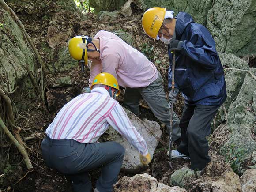
[[[195,23],[191,15],[179,12],[176,39],[183,41],[175,56],[175,87],[187,104],[222,105],[226,100],[226,82],[215,41],[206,27]],[[169,46],[168,46],[169,50]],[[169,90],[172,82],[172,53],[168,51]]]

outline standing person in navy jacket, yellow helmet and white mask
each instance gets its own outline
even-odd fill
[[[173,18],[173,11],[150,8],[144,13],[142,24],[148,36],[168,44],[169,90],[173,52],[176,55],[175,90],[184,97],[184,110],[180,121],[181,143],[177,150],[172,150],[172,158],[190,158],[191,169],[202,170],[211,161],[206,136],[226,100],[226,82],[215,41],[205,26],[195,23],[185,12]],[[169,100],[174,104],[175,95],[170,93]]]

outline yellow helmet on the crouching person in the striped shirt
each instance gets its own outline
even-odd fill
[[[116,96],[118,96],[120,94],[117,79],[110,73],[99,73],[98,75],[96,75],[96,77],[94,78],[94,80],[92,82],[90,89],[92,89],[92,87],[96,84],[102,84],[102,85],[107,85],[107,86],[113,87],[116,90],[118,90],[118,92],[116,93]]]

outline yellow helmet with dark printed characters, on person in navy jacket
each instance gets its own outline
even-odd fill
[[[144,32],[155,40],[166,15],[166,8],[149,8],[142,17]]]

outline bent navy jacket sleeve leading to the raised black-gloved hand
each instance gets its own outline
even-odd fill
[[[185,40],[181,53],[188,56],[205,69],[215,69],[219,62],[218,53],[215,49],[215,41],[208,30],[203,31],[203,36],[191,32],[189,40]]]

